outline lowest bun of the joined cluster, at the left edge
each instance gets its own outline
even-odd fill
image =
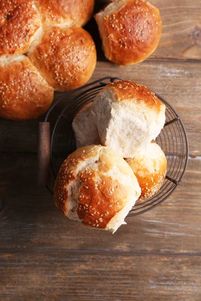
[[[48,110],[54,91],[26,56],[1,60],[0,74],[1,117],[35,119]]]

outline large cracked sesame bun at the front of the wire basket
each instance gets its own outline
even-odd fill
[[[54,200],[68,218],[115,232],[125,224],[140,193],[123,158],[105,146],[89,145],[75,150],[62,164]]]

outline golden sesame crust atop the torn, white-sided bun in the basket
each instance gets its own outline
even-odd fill
[[[132,81],[115,81],[104,87],[104,89],[108,87],[112,87],[117,93],[117,101],[129,99],[133,101],[135,99],[137,102],[143,102],[147,107],[157,112],[160,112],[161,106],[164,106],[164,103],[152,91]]]

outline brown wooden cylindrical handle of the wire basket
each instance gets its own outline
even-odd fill
[[[38,184],[50,182],[50,122],[39,122],[38,128]]]

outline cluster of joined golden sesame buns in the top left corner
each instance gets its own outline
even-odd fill
[[[37,118],[54,90],[85,84],[96,63],[95,45],[81,28],[94,0],[0,2],[0,116]]]

